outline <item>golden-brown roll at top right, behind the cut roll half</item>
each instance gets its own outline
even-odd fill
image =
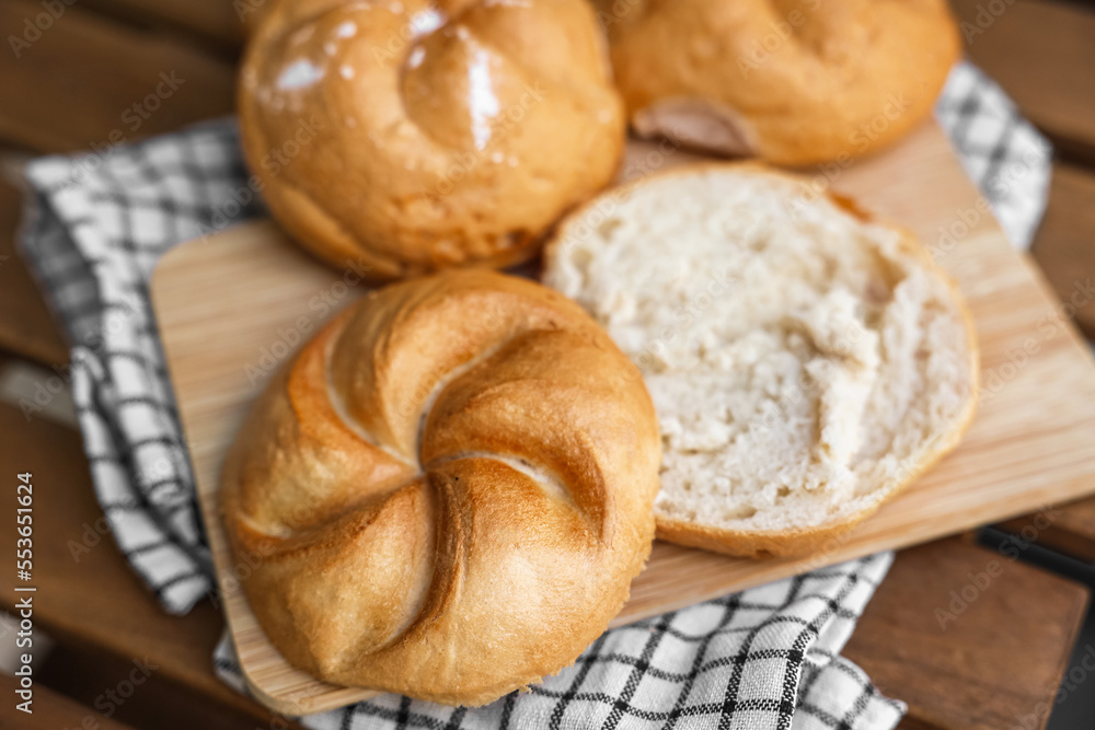
[[[776,164],[927,116],[958,58],[945,0],[595,0],[636,131]]]

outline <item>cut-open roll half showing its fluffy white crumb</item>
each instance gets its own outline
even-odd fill
[[[544,281],[638,364],[661,427],[658,536],[800,555],[953,449],[978,357],[912,233],[757,164],[683,167],[566,219]]]

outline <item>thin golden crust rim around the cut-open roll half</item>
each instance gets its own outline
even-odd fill
[[[604,201],[612,197],[623,198],[626,195],[649,182],[662,181],[672,177],[684,177],[707,171],[718,172],[722,170],[733,170],[735,172],[748,172],[750,174],[772,175],[783,179],[793,181],[804,186],[805,192],[810,192],[808,181],[794,173],[775,170],[766,164],[751,161],[739,162],[700,162],[681,165],[670,170],[660,171],[653,175],[631,181],[618,188],[613,188],[603,195],[588,201],[585,206],[567,216],[557,227],[554,235],[544,247],[544,269],[551,269],[555,265],[556,257],[561,254],[561,247],[565,241],[574,235],[574,230],[578,227],[589,228],[587,218],[604,210]],[[791,530],[725,530],[712,525],[699,524],[690,520],[675,519],[655,510],[657,522],[657,537],[671,543],[699,547],[702,549],[734,555],[738,557],[794,557],[804,556],[817,552],[831,552],[839,547],[845,540],[846,533],[864,519],[876,512],[886,501],[892,499],[901,490],[915,482],[922,474],[942,460],[946,454],[955,449],[969,429],[977,412],[978,389],[980,384],[980,347],[977,339],[977,331],[973,324],[973,316],[967,306],[958,286],[946,271],[944,271],[932,256],[921,245],[915,234],[910,230],[880,221],[869,212],[861,208],[855,200],[827,192],[826,197],[849,215],[862,221],[869,221],[877,224],[887,225],[901,234],[902,247],[910,254],[922,260],[925,268],[932,270],[940,279],[946,282],[952,298],[955,300],[960,316],[963,327],[966,332],[966,343],[969,352],[968,368],[970,378],[969,397],[964,404],[960,415],[954,428],[947,432],[938,434],[932,443],[932,448],[924,454],[924,457],[906,468],[904,478],[888,487],[875,493],[877,498],[866,505],[863,509],[849,514],[840,520],[831,521],[821,525],[797,528]]]

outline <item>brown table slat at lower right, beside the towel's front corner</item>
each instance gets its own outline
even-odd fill
[[[1086,605],[1079,583],[945,540],[898,554],[843,653],[909,704],[902,727],[1044,728]]]

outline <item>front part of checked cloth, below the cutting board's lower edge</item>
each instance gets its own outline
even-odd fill
[[[407,728],[892,728],[904,710],[839,656],[892,553],[781,580],[607,631],[574,665],[483,708],[378,699],[304,722]],[[231,646],[217,668],[242,687]],[[796,711],[797,710],[797,711]]]

